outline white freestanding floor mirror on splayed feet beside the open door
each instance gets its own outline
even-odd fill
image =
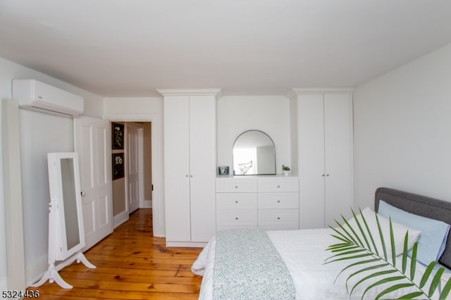
[[[72,286],[61,278],[58,271],[80,261],[88,268],[96,268],[82,254],[85,246],[83,228],[80,172],[76,153],[49,153],[49,270],[32,285],[39,287],[47,280],[65,289]],[[56,265],[56,262],[59,262]]]

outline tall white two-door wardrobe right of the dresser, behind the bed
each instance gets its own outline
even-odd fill
[[[294,89],[292,165],[299,175],[299,227],[335,225],[352,206],[352,91]]]

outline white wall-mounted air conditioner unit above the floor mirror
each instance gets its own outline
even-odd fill
[[[83,113],[84,100],[81,96],[37,80],[13,80],[13,99],[19,101],[20,108],[42,113],[66,117],[78,117]]]

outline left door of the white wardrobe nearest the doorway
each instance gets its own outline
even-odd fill
[[[164,98],[166,240],[191,241],[189,96]]]

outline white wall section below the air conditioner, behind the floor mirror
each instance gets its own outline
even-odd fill
[[[49,173],[47,153],[73,152],[73,119],[19,111],[20,163],[25,241],[25,278],[39,279],[47,270]]]

